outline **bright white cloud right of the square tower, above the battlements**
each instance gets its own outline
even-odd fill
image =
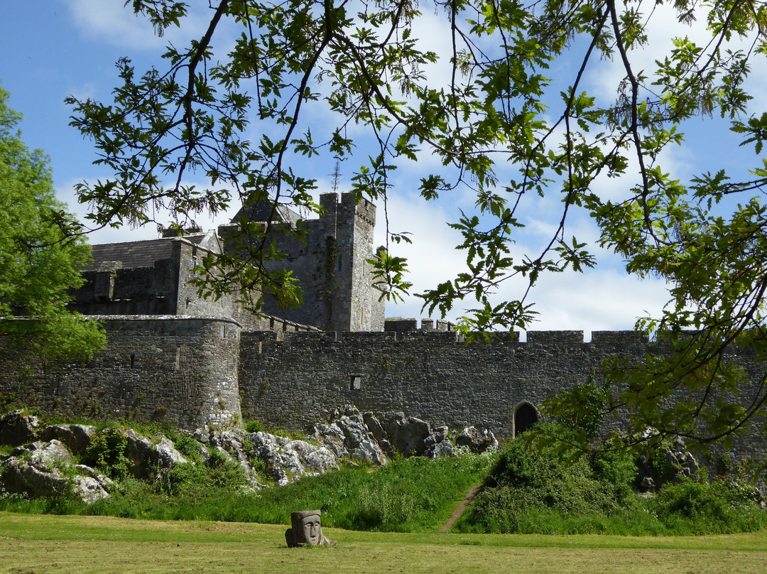
[[[412,245],[390,246],[396,256],[407,257],[410,274],[407,280],[413,282],[413,293],[435,287],[439,282],[452,279],[465,267],[465,252],[455,246],[461,236],[446,226],[451,213],[446,203],[431,203],[412,196],[393,194],[389,211],[392,229],[410,230]],[[539,210],[539,206],[532,209]],[[591,227],[590,227],[591,226]],[[550,232],[551,229],[546,229]],[[579,236],[594,238],[596,233],[588,218],[576,218],[571,231]],[[512,256],[533,252],[535,238],[522,229],[520,242],[512,246]],[[383,206],[378,205],[375,245],[384,241]],[[531,242],[532,241],[532,242]],[[532,291],[528,302],[535,302],[538,320],[532,330],[575,329],[593,330],[630,329],[640,316],[656,314],[668,300],[664,282],[654,279],[640,281],[623,271],[621,259],[612,252],[593,248],[599,263],[597,268],[584,273],[572,271],[561,274],[545,274]],[[502,284],[492,301],[519,299],[526,289],[523,278],[511,279]],[[404,302],[387,303],[387,316],[421,317],[423,301],[410,296]],[[456,321],[471,308],[472,301],[456,302],[456,308],[448,319]],[[435,313],[436,315],[436,313]],[[436,316],[435,316],[436,318]],[[587,337],[588,338],[588,337]]]

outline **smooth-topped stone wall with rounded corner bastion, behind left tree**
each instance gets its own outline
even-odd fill
[[[131,418],[194,429],[241,420],[240,326],[219,318],[100,318],[107,348],[88,365],[25,374],[4,355],[0,404],[68,418]]]

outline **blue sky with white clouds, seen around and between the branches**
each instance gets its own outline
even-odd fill
[[[199,3],[207,5],[207,2]],[[91,165],[95,158],[91,143],[68,126],[71,110],[64,104],[64,97],[75,95],[108,100],[111,88],[117,84],[114,62],[118,58],[131,58],[137,69],[143,71],[158,62],[157,55],[166,42],[182,45],[189,34],[199,32],[205,24],[203,11],[199,18],[193,19],[189,28],[173,31],[160,39],[153,35],[150,25],[122,5],[122,0],[2,0],[0,82],[11,93],[11,107],[24,114],[21,129],[25,143],[48,153],[60,199],[81,216],[87,208],[77,205],[74,200],[74,183],[104,178],[109,174]],[[422,9],[426,18],[433,18],[429,9]],[[667,45],[671,33],[664,28],[656,30],[657,38],[650,41],[647,54],[643,54],[648,62],[657,57],[656,50]],[[439,35],[431,35],[428,43],[439,51],[443,41]],[[605,62],[602,68],[591,71],[586,87],[612,97],[610,86],[617,73],[615,64]],[[567,74],[568,71],[567,62],[560,62],[555,63],[551,73]],[[755,81],[760,81],[760,74],[755,76]],[[761,81],[765,82],[764,79]],[[756,94],[762,94],[762,101],[755,101],[754,109],[764,110],[767,84],[752,85],[752,88]],[[685,146],[672,150],[667,157],[667,163],[677,176],[686,178],[691,173],[719,167],[744,170],[756,163],[752,150],[739,148],[738,140],[726,130],[721,120],[706,119],[690,125],[687,134]],[[430,158],[423,157],[422,161],[428,164]],[[463,256],[453,249],[459,236],[446,226],[446,222],[455,219],[458,209],[471,205],[470,198],[460,195],[437,203],[420,200],[413,181],[417,180],[421,167],[413,165],[400,170],[389,205],[392,229],[413,234],[413,246],[400,248],[396,254],[410,259],[411,280],[416,291],[448,279],[463,265]],[[318,178],[321,191],[331,190],[332,166],[318,162],[317,166],[308,169],[314,170],[310,175]],[[347,168],[342,165],[344,169]],[[342,180],[342,189],[343,183]],[[604,183],[604,186],[612,186],[615,193],[628,185],[630,180]],[[606,193],[611,192],[607,190]],[[534,249],[536,242],[551,229],[550,214],[558,215],[556,200],[535,200],[527,209],[528,227],[520,236],[519,249]],[[379,206],[379,222],[382,220],[382,206]],[[219,223],[225,221],[204,222],[203,226],[213,228]],[[383,226],[379,228],[382,230]],[[570,229],[591,241],[597,239],[597,231],[585,214],[576,213]],[[91,236],[91,242],[155,236],[156,229],[153,228],[102,230]],[[377,244],[383,239],[379,232]],[[640,282],[627,277],[620,259],[604,251],[597,250],[597,253],[600,264],[595,270],[542,279],[533,297],[540,313],[539,321],[532,328],[584,330],[588,338],[591,330],[629,329],[637,317],[658,312],[667,300],[663,282]],[[520,289],[522,283],[509,282],[504,292],[499,293],[499,299],[518,297]],[[461,309],[456,309],[448,318],[455,319],[460,314]],[[420,302],[412,298],[397,306],[388,305],[387,316],[395,315],[421,316]]]

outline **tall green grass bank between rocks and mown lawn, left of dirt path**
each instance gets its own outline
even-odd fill
[[[23,513],[92,514],[146,520],[215,520],[249,523],[290,523],[292,510],[322,511],[322,523],[345,529],[382,532],[416,532],[439,529],[466,490],[481,482],[494,463],[482,455],[428,460],[397,458],[378,469],[345,467],[318,477],[304,477],[287,487],[255,493],[227,487],[222,482],[209,488],[200,477],[185,482],[203,484],[179,496],[170,496],[155,483],[123,481],[124,493],[87,506],[77,500],[0,499],[0,510]],[[179,465],[180,466],[180,465]],[[184,465],[182,468],[190,469]],[[236,477],[229,485],[236,484]],[[192,489],[189,486],[189,489]]]

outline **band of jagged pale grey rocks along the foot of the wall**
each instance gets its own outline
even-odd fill
[[[92,467],[77,464],[77,458],[94,464],[119,465],[120,472],[140,480],[160,480],[176,464],[237,463],[253,489],[265,484],[284,486],[301,477],[341,467],[344,462],[380,466],[400,452],[427,457],[449,456],[456,449],[482,452],[497,446],[486,430],[463,430],[454,446],[448,427],[432,428],[403,413],[368,412],[356,407],[334,411],[328,421],[314,424],[306,440],[242,429],[202,427],[186,439],[183,454],[162,433],[145,437],[133,429],[107,428],[97,432],[83,424],[41,427],[36,417],[14,411],[0,418],[5,444],[31,438],[0,457],[0,487],[29,496],[74,493],[93,503],[114,490],[114,483]],[[34,440],[39,438],[39,440]],[[107,460],[108,459],[108,460]],[[98,462],[100,461],[100,462]]]

